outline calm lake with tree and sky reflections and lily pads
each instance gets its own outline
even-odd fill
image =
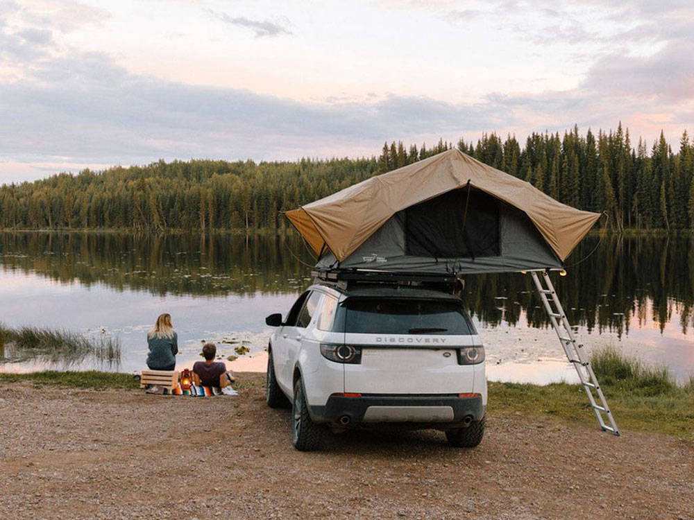
[[[264,316],[286,313],[310,284],[311,261],[295,236],[0,234],[1,324],[69,329],[121,344],[112,359],[51,359],[6,347],[0,370],[140,370],[146,331],[162,312],[178,330],[179,367],[199,359],[207,340],[223,358],[248,347],[232,365],[240,370],[262,367]],[[694,374],[693,239],[591,236],[567,265],[568,276],[555,277],[555,285],[582,343],[666,364],[680,381]],[[523,275],[466,279],[490,379],[573,380],[531,284]]]

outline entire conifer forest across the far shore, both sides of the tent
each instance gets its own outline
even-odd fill
[[[0,187],[0,228],[284,229],[280,211],[457,146],[464,153],[527,180],[568,205],[607,211],[613,229],[694,227],[694,141],[679,149],[665,137],[632,146],[629,131],[574,127],[564,135],[485,134],[476,144],[384,144],[378,157],[296,162],[163,161],[101,173],[61,173]]]

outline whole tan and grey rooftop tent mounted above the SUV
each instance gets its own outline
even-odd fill
[[[285,215],[321,270],[453,275],[561,268],[600,218],[458,150]]]

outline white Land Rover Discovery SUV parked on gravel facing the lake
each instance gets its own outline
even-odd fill
[[[484,435],[484,347],[459,298],[403,286],[316,284],[287,317],[272,314],[268,406],[292,407],[296,449],[323,433],[398,424],[446,432],[457,447]]]

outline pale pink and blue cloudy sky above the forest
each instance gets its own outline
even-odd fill
[[[0,0],[0,183],[619,121],[675,148],[693,44],[691,0]]]

